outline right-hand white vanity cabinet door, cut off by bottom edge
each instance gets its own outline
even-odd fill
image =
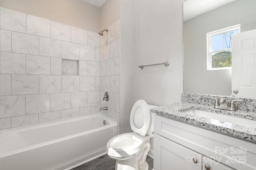
[[[235,170],[220,162],[212,160],[206,156],[203,156],[203,170]]]

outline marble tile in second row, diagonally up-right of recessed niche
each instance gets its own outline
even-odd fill
[[[80,45],[80,60],[95,61],[95,47]]]

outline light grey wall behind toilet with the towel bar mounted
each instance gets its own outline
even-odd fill
[[[134,1],[133,103],[143,99],[160,106],[181,101],[182,25],[182,0]],[[170,66],[138,68],[165,61]]]

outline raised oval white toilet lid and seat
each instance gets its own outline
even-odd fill
[[[150,126],[150,110],[144,100],[138,100],[132,107],[130,124],[134,133],[146,135]]]

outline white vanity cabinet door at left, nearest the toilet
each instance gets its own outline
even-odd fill
[[[155,133],[154,170],[202,170],[202,154]]]

